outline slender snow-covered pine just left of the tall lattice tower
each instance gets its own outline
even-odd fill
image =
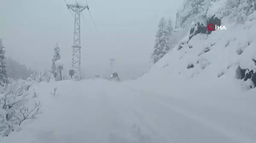
[[[58,47],[58,43],[57,43],[54,48],[54,56],[52,58],[52,74],[57,81],[60,80],[60,79],[58,79],[58,77],[59,77],[58,74],[60,74],[60,72],[57,70],[55,62],[60,59],[61,59],[60,48]]]

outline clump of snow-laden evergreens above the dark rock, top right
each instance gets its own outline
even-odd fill
[[[243,23],[255,9],[255,0],[185,0],[177,12],[175,28],[191,28],[197,22],[205,24],[207,17],[212,16]]]

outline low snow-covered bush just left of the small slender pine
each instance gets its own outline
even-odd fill
[[[32,82],[49,82],[51,79],[54,79],[54,76],[51,71],[47,70],[45,70],[44,72],[35,72],[29,78],[27,78],[28,81]]]

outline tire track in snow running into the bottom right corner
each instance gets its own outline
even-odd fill
[[[173,112],[176,112],[180,115],[183,115],[186,118],[189,118],[195,122],[198,122],[204,126],[207,126],[208,128],[214,130],[215,132],[220,133],[221,135],[224,135],[224,136],[230,138],[231,140],[238,141],[239,143],[255,143],[255,140],[250,140],[248,137],[236,134],[235,132],[233,132],[231,130],[225,129],[223,126],[219,126],[218,124],[208,121],[207,119],[203,118],[202,116],[193,115],[189,112],[184,111],[183,109],[172,106],[170,104],[166,104],[163,101],[160,101],[159,99],[152,97],[152,96],[154,96],[152,93],[150,93],[151,96],[148,96],[147,94],[149,94],[149,93],[145,94],[145,92],[142,90],[137,90],[137,89],[133,89],[130,87],[127,87],[127,88],[130,89],[132,92],[140,93],[139,94],[140,96],[143,96],[146,99],[156,102],[156,103],[160,104],[161,106],[166,107],[167,109],[169,109]]]

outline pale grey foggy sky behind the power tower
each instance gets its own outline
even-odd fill
[[[86,4],[85,0],[79,1]],[[75,0],[67,0],[75,3]],[[86,77],[109,76],[110,61],[124,78],[148,70],[157,25],[175,20],[182,0],[88,0],[81,15],[81,67]],[[175,22],[175,21],[173,21]],[[65,73],[71,68],[74,17],[64,0],[0,0],[0,38],[6,55],[35,70],[50,69],[58,42]]]

